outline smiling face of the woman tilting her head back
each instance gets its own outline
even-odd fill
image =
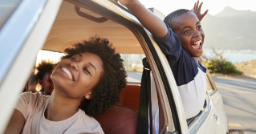
[[[61,60],[52,71],[51,79],[58,94],[72,99],[90,99],[91,89],[99,82],[103,71],[98,55],[80,53]]]

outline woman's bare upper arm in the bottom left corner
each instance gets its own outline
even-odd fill
[[[9,124],[6,128],[5,134],[19,134],[25,124],[25,118],[21,112],[14,109],[14,114],[11,116]]]

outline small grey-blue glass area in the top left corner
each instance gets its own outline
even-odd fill
[[[0,1],[0,29],[3,24],[10,18],[10,15],[18,7],[22,0],[1,0]]]

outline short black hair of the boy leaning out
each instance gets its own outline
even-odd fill
[[[191,10],[186,10],[186,9],[180,9],[180,10],[175,10],[172,13],[168,14],[165,19],[164,22],[165,24],[168,24],[170,26],[170,28],[173,27],[173,20],[175,18],[178,18],[179,16],[181,16],[182,14],[188,13],[188,12],[192,12]]]

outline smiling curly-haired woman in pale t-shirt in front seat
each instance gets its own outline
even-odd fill
[[[23,93],[6,133],[104,133],[91,115],[120,101],[123,60],[108,39],[96,37],[65,53],[51,74],[51,96]]]

